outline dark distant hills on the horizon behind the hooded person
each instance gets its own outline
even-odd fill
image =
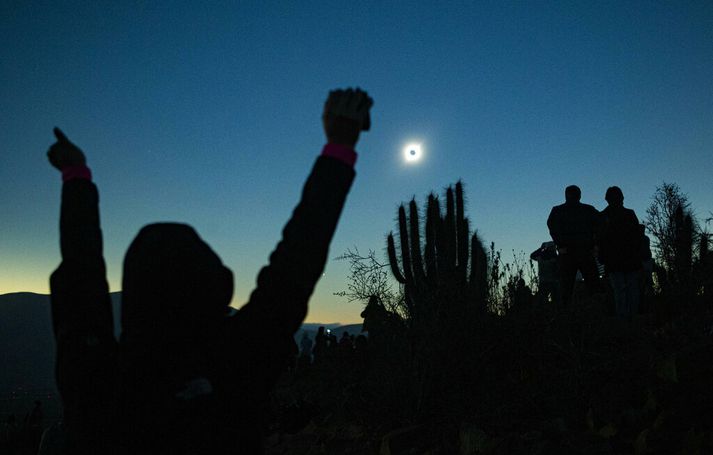
[[[114,332],[119,334],[121,293],[111,294]],[[295,334],[299,340],[306,331],[314,338],[324,325],[341,337],[343,331],[357,335],[361,324],[304,324]],[[52,390],[55,345],[48,295],[17,292],[0,295],[0,394],[20,387]]]

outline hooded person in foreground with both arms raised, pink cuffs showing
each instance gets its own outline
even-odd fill
[[[369,126],[361,90],[331,92],[317,159],[282,239],[239,311],[232,272],[187,225],[141,229],[124,260],[113,336],[98,191],[82,151],[55,129],[62,263],[52,274],[57,385],[68,453],[259,453],[261,410],[296,350]],[[270,327],[270,330],[265,330]]]

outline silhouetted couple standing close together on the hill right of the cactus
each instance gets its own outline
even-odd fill
[[[557,245],[562,302],[572,299],[577,271],[590,292],[599,290],[596,258],[604,265],[614,291],[617,315],[631,319],[638,311],[639,270],[643,234],[633,210],[624,207],[624,194],[607,189],[608,206],[600,213],[580,202],[575,185],[565,189],[565,203],[552,208],[547,226]]]

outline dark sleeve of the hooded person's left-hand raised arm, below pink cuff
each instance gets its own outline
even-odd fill
[[[65,425],[81,451],[80,446],[104,439],[113,409],[116,352],[99,195],[89,180],[64,183],[60,246],[62,263],[50,277],[56,378]]]

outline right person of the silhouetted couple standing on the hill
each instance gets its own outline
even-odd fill
[[[624,193],[619,187],[607,189],[605,199],[609,205],[602,210],[599,258],[614,291],[616,314],[631,321],[639,309],[641,227],[636,213],[624,207]]]

